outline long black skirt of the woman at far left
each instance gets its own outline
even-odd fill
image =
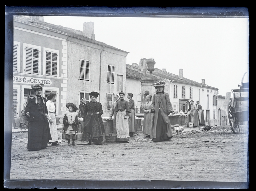
[[[41,150],[48,146],[48,131],[44,115],[41,120],[30,121],[28,127],[28,150]]]

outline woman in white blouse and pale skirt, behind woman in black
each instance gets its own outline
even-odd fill
[[[52,136],[52,140],[49,141],[49,143],[52,143],[52,145],[59,145],[58,144],[58,130],[57,130],[57,124],[56,124],[56,118],[55,118],[55,106],[53,101],[55,100],[56,93],[49,93],[47,96],[48,101],[46,102],[46,106],[48,109],[48,115],[47,119],[49,121],[50,126],[50,133]]]

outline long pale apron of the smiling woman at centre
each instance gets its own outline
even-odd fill
[[[118,111],[116,114],[116,138],[129,138],[128,118],[124,119],[126,111]]]

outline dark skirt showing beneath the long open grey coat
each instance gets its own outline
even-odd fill
[[[161,141],[168,141],[172,137],[167,136],[167,126],[169,124],[166,124],[164,122],[164,119],[162,118],[161,111],[159,109],[158,112],[158,118],[156,122],[156,138],[153,138],[153,142],[161,142]]]

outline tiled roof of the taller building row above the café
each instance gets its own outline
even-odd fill
[[[65,35],[72,36],[72,37],[75,37],[75,38],[78,38],[78,39],[81,39],[81,40],[85,40],[85,41],[88,41],[88,42],[92,42],[92,43],[95,43],[95,44],[99,44],[99,45],[104,45],[105,44],[103,42],[93,40],[93,39],[90,39],[90,38],[87,38],[87,37],[83,36],[83,31],[75,30],[75,29],[60,26],[60,25],[54,25],[54,24],[47,23],[47,22],[44,22],[44,21],[39,21],[39,20],[37,20],[37,21],[33,20],[33,22],[30,22],[29,18],[25,17],[25,16],[14,16],[13,21],[23,23],[23,24],[26,24],[26,25],[30,25],[30,26],[35,26],[35,27],[38,27],[38,28],[43,28],[45,30],[53,31],[53,32],[56,32],[56,33],[65,34]],[[112,48],[112,49],[120,50],[122,52],[126,52],[124,50],[112,47],[110,45],[107,45],[107,44],[105,44],[105,45],[108,48]],[[126,52],[126,53],[129,53],[129,52]]]

